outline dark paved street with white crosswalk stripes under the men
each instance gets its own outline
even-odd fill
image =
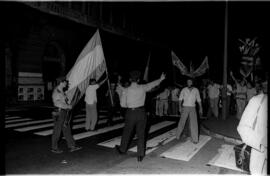
[[[174,138],[175,117],[148,120],[146,157],[141,163],[137,162],[134,152],[136,137],[127,155],[116,153],[113,146],[121,140],[124,120],[119,116],[112,126],[106,126],[107,112],[104,110],[99,112],[98,130],[94,132],[84,130],[85,112],[75,113],[73,135],[83,149],[70,153],[65,141],[61,140],[64,153],[54,154],[49,150],[53,128],[50,111],[50,108],[41,108],[6,113],[6,174],[241,174],[208,164],[221,146],[228,144],[225,141],[203,133],[197,146],[190,144],[188,139],[177,141]],[[169,151],[176,156],[174,148],[184,150],[183,146],[187,152],[194,148],[190,156],[184,156],[186,159],[162,156]]]

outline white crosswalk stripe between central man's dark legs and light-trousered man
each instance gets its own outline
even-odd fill
[[[175,130],[176,128],[148,140],[146,144],[145,154],[147,155],[151,153],[152,151],[154,151],[155,149],[157,149],[158,147],[160,147],[160,145],[167,144],[168,142],[175,139]],[[137,146],[129,149],[129,151],[137,152]]]

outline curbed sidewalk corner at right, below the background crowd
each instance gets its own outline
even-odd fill
[[[229,116],[222,120],[208,118],[201,120],[201,129],[208,135],[223,139],[233,144],[241,144],[242,140],[237,132],[239,120],[235,116]]]

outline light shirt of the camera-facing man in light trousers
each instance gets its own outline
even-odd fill
[[[183,102],[183,106],[195,107],[195,102],[201,102],[199,90],[195,87],[190,91],[188,87],[182,89],[179,101]]]

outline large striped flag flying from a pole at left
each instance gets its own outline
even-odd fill
[[[70,104],[74,106],[78,103],[89,85],[90,78],[98,81],[106,70],[99,30],[97,30],[66,76],[69,81],[67,97]]]

